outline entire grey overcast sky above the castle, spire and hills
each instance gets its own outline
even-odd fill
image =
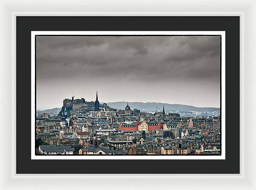
[[[63,99],[220,107],[218,36],[37,36],[37,109]]]

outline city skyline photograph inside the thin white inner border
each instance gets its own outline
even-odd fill
[[[33,37],[35,156],[221,156],[221,35]]]

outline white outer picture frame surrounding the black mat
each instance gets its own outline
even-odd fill
[[[240,174],[17,174],[16,16],[239,16]],[[255,0],[0,0],[0,189],[234,189],[256,190]],[[237,110],[239,111],[239,110]],[[227,147],[228,148],[228,147]],[[29,166],[28,166],[29,167]]]

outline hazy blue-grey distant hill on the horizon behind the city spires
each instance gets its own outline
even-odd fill
[[[125,109],[127,102],[108,102],[107,103],[111,108],[115,109]],[[154,112],[160,108],[162,111],[163,105],[166,112],[173,110],[177,111],[198,111],[198,112],[212,112],[212,111],[220,111],[220,108],[200,108],[191,105],[181,105],[181,104],[166,104],[159,102],[128,102],[131,109],[137,108],[140,111]]]

